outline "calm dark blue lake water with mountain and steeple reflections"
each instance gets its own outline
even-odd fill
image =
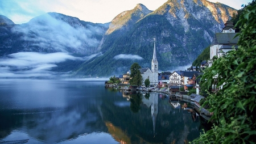
[[[0,79],[0,143],[184,143],[199,137],[204,121],[168,99],[126,94],[99,80]]]

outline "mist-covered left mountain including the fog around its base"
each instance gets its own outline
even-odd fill
[[[98,45],[109,27],[109,23],[84,22],[56,12],[40,15],[24,24],[14,24],[6,16],[0,15],[0,22],[0,56],[4,59],[0,62],[0,69],[5,68],[2,71],[6,71],[4,74],[7,74],[7,77],[10,73],[39,69],[39,65],[46,64],[47,67],[42,67],[47,70],[43,71],[46,73],[72,71],[90,57],[100,54]],[[33,57],[34,59],[30,61],[38,62],[36,66],[20,68],[19,65],[11,64],[14,60],[21,61],[20,59],[24,58],[22,54],[29,54],[31,58],[33,54],[41,54],[52,61],[45,63],[36,60],[40,57]]]

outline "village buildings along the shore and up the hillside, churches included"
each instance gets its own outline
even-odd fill
[[[200,94],[200,75],[203,74],[203,70],[206,67],[212,66],[213,61],[216,58],[224,56],[229,50],[237,48],[237,42],[239,36],[235,37],[237,33],[233,23],[229,20],[225,23],[225,27],[221,33],[215,33],[212,44],[210,45],[210,60],[204,60],[200,66],[191,66],[187,70],[166,71],[158,73],[158,61],[156,58],[156,48],[154,42],[154,53],[151,61],[151,70],[148,67],[140,69],[142,75],[142,82],[149,79],[150,86],[168,87],[171,94],[175,94],[180,91],[181,88],[184,91],[189,91],[192,88],[196,89],[196,94]],[[130,71],[126,74],[116,77],[119,80],[119,84],[125,86],[129,85]],[[212,84],[212,92],[216,92],[221,87],[216,87],[217,83]]]

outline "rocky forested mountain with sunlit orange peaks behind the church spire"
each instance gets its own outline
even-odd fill
[[[122,74],[134,62],[151,67],[153,38],[159,70],[191,64],[236,13],[206,0],[169,0],[152,12],[138,4],[112,20],[99,46],[102,55],[82,63],[75,75]]]

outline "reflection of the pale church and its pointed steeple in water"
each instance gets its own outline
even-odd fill
[[[145,104],[148,108],[151,105],[151,115],[152,115],[152,122],[153,122],[153,130],[155,136],[155,123],[156,123],[156,116],[158,115],[158,93],[150,93],[150,97],[147,99],[143,96],[143,104]]]

